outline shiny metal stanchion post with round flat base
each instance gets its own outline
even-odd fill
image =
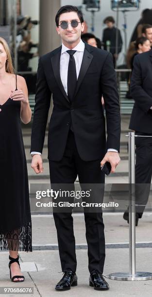
[[[152,280],[151,272],[136,272],[135,269],[135,132],[129,132],[129,273],[109,274],[117,281]],[[138,136],[140,137],[140,136]]]

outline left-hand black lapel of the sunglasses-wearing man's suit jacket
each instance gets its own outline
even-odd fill
[[[61,47],[60,47],[59,51],[54,56],[51,57],[51,65],[53,68],[54,77],[56,79],[56,82],[58,83],[59,88],[61,89],[61,92],[63,93],[64,97],[69,102],[67,93],[64,89],[64,86],[62,84],[61,77],[60,77],[60,56],[61,56]]]

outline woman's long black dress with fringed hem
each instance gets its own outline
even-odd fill
[[[32,251],[29,185],[20,106],[20,101],[10,98],[0,105],[0,248]]]

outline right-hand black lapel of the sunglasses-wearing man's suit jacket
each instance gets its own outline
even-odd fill
[[[93,59],[93,55],[87,50],[87,46],[85,44],[84,56],[83,56],[82,65],[80,68],[80,73],[78,76],[77,86],[76,86],[76,90],[75,90],[75,96],[80,88],[80,85],[84,79],[85,73],[86,73],[92,59]]]

